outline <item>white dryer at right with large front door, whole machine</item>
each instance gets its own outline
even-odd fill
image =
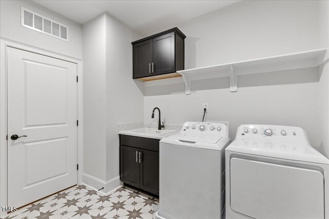
[[[329,218],[328,174],[303,129],[242,125],[226,148],[226,218]]]

